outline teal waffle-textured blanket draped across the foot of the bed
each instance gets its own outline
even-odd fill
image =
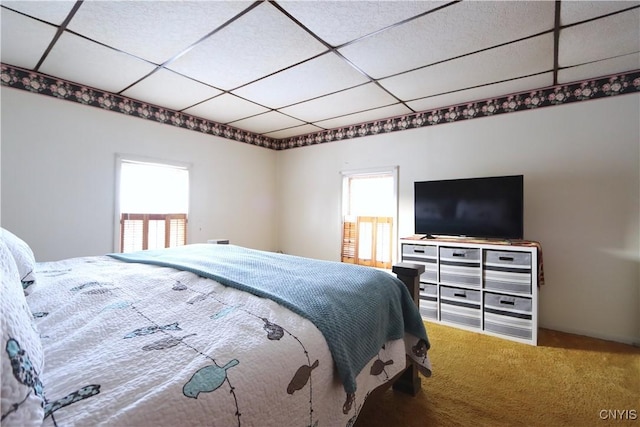
[[[385,342],[405,332],[429,342],[404,284],[371,267],[213,244],[110,256],[190,271],[309,319],[323,333],[347,393]]]

